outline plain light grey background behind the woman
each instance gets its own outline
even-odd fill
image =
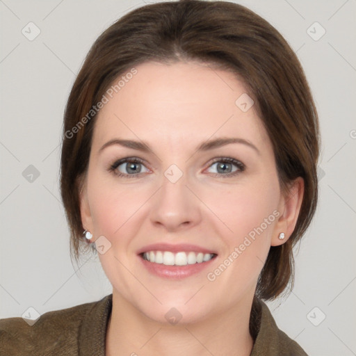
[[[270,309],[309,355],[356,355],[356,1],[236,2],[267,19],[297,52],[323,139],[320,201],[296,256],[296,285]],[[60,136],[67,96],[92,42],[145,3],[0,0],[0,318],[111,293],[97,257],[79,270],[70,261],[58,191]],[[32,41],[22,34],[35,34],[29,22],[40,29]],[[318,40],[323,29],[314,22],[326,31]],[[29,165],[40,173],[32,182],[23,175]]]

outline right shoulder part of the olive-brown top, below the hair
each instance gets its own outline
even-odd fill
[[[260,325],[251,356],[307,356],[305,350],[277,327],[266,303],[260,301]]]

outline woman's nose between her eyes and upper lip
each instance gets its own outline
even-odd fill
[[[166,232],[181,232],[200,223],[202,203],[187,180],[184,174],[177,181],[170,179],[169,175],[163,176],[150,212],[150,219],[156,227]]]

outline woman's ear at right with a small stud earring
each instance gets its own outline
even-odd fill
[[[296,227],[296,223],[299,216],[300,207],[302,206],[302,199],[304,195],[304,179],[298,177],[292,184],[289,185],[289,189],[286,193],[281,194],[280,204],[278,211],[280,217],[273,230],[273,236],[270,241],[271,246],[279,246],[285,243]],[[284,233],[284,239],[278,238],[280,233]]]

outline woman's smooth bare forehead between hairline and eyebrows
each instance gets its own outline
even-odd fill
[[[149,62],[135,69],[136,74],[122,74],[106,91],[93,145],[115,136],[169,146],[211,136],[243,136],[257,144],[268,140],[254,106],[242,110],[241,102],[250,106],[252,101],[232,72],[194,62]]]

